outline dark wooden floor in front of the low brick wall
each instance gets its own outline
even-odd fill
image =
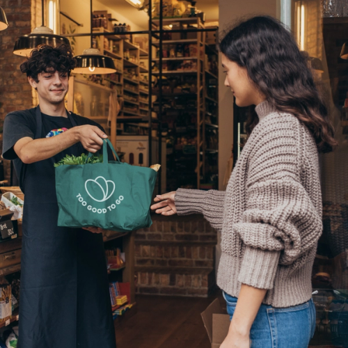
[[[117,348],[210,348],[200,313],[216,296],[136,296],[137,313],[116,327]]]

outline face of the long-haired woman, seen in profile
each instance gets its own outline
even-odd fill
[[[258,105],[266,99],[249,79],[246,68],[230,61],[225,54],[222,54],[222,66],[226,73],[225,86],[231,88],[238,106]]]

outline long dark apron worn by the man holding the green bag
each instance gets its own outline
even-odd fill
[[[36,125],[45,138],[39,106]],[[54,162],[81,152],[25,166],[18,348],[116,347],[102,235],[57,227]]]

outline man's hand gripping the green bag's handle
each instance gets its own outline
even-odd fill
[[[74,127],[72,130],[77,134],[77,139],[84,146],[85,150],[92,153],[100,150],[103,145],[103,139],[108,137],[98,127],[91,125]]]

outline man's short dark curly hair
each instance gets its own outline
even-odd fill
[[[68,72],[70,75],[75,65],[76,60],[72,56],[70,46],[40,45],[37,49],[33,49],[31,55],[20,65],[20,70],[38,82],[38,74],[41,72]]]

